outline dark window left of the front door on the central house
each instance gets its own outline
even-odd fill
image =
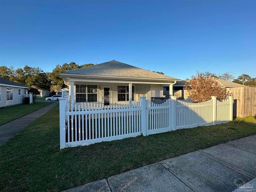
[[[76,102],[97,102],[97,85],[76,85]]]

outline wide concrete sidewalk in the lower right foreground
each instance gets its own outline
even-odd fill
[[[233,191],[253,178],[256,178],[256,135],[66,191]],[[251,183],[250,191],[256,191],[256,182]]]

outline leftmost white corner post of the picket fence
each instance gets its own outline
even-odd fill
[[[60,149],[66,147],[66,99],[59,98],[60,104]]]

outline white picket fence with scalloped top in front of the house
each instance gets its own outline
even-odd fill
[[[177,129],[227,123],[233,118],[233,99],[202,103],[177,100],[175,96],[162,104],[141,97],[129,105],[70,108],[68,99],[60,98],[60,148],[90,145],[163,133]]]

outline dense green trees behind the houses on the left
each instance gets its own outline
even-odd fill
[[[36,86],[51,92],[57,92],[59,89],[66,87],[60,77],[60,73],[92,65],[94,64],[77,65],[75,62],[64,63],[63,65],[57,65],[52,72],[45,72],[39,67],[29,67],[27,65],[18,69],[0,66],[0,77],[29,87]]]

